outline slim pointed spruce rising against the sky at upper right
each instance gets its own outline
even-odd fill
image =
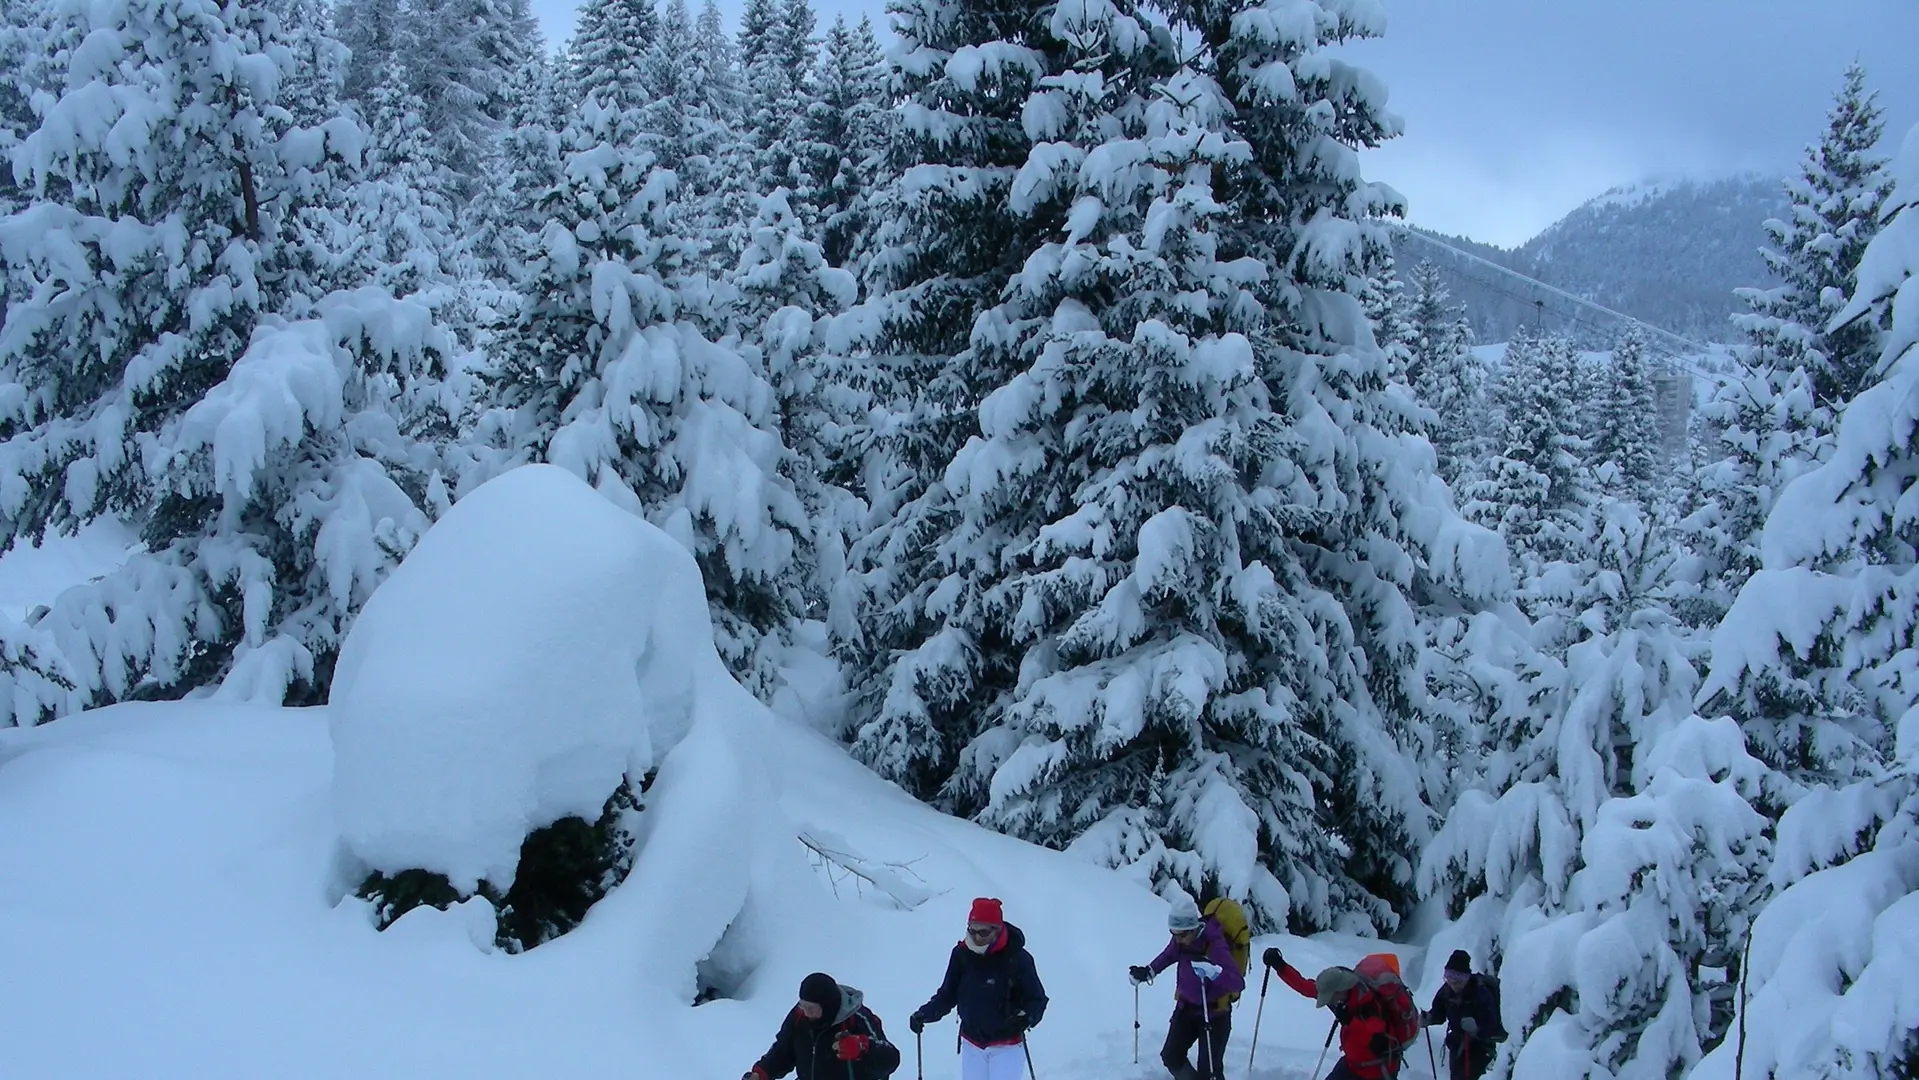
[[[1764,255],[1779,284],[1739,290],[1752,307],[1735,318],[1752,343],[1750,366],[1804,366],[1819,405],[1835,412],[1865,386],[1884,332],[1877,320],[1827,326],[1852,297],[1860,255],[1879,230],[1890,186],[1877,153],[1883,132],[1877,94],[1865,90],[1865,69],[1854,63],[1825,134],[1806,148],[1800,175],[1787,182],[1790,217],[1765,223],[1771,247]]]

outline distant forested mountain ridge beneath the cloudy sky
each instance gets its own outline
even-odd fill
[[[1733,290],[1773,280],[1760,247],[1767,242],[1765,221],[1785,213],[1781,178],[1741,175],[1612,188],[1510,249],[1412,232],[1694,341],[1725,341],[1727,318],[1742,309]],[[1481,341],[1504,341],[1520,324],[1541,320],[1589,345],[1610,345],[1618,334],[1618,320],[1472,259],[1409,236],[1395,247],[1401,269],[1432,259],[1449,270],[1447,286],[1466,305]]]

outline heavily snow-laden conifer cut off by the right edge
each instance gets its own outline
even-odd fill
[[[1700,1063],[1706,1080],[1919,1067],[1904,1007],[1919,998],[1919,127],[1892,175],[1892,217],[1835,320],[1888,317],[1875,382],[1840,416],[1831,458],[1779,497],[1765,568],[1714,637],[1708,691],[1802,689],[1817,712],[1756,731],[1806,787],[1779,821],[1777,892],[1752,928],[1746,1038]]]

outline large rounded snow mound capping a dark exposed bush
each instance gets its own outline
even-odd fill
[[[555,466],[461,499],[340,648],[340,834],[368,867],[470,892],[528,833],[593,821],[691,723],[720,660],[685,547]]]

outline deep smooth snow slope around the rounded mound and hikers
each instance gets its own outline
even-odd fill
[[[380,934],[365,904],[342,900],[357,867],[338,854],[324,710],[129,704],[0,731],[6,1076],[731,1080],[816,967],[865,990],[910,1076],[906,1015],[975,894],[1006,900],[1052,992],[1031,1044],[1038,1076],[1165,1074],[1171,984],[1144,990],[1134,1068],[1125,978],[1165,942],[1159,898],[935,813],[745,702],[668,756],[628,884],[526,955],[476,944],[489,919],[459,909]],[[917,905],[812,865],[802,834],[879,865]],[[718,950],[704,944],[716,921],[739,927]],[[1364,951],[1267,944],[1307,971]],[[737,982],[735,998],[695,1007],[687,969],[710,951],[708,976],[727,969],[714,980]],[[1240,1007],[1232,1076],[1255,1005]],[[1255,1076],[1305,1076],[1324,1022],[1274,982]],[[958,1074],[952,1032],[927,1032],[927,1076]]]

